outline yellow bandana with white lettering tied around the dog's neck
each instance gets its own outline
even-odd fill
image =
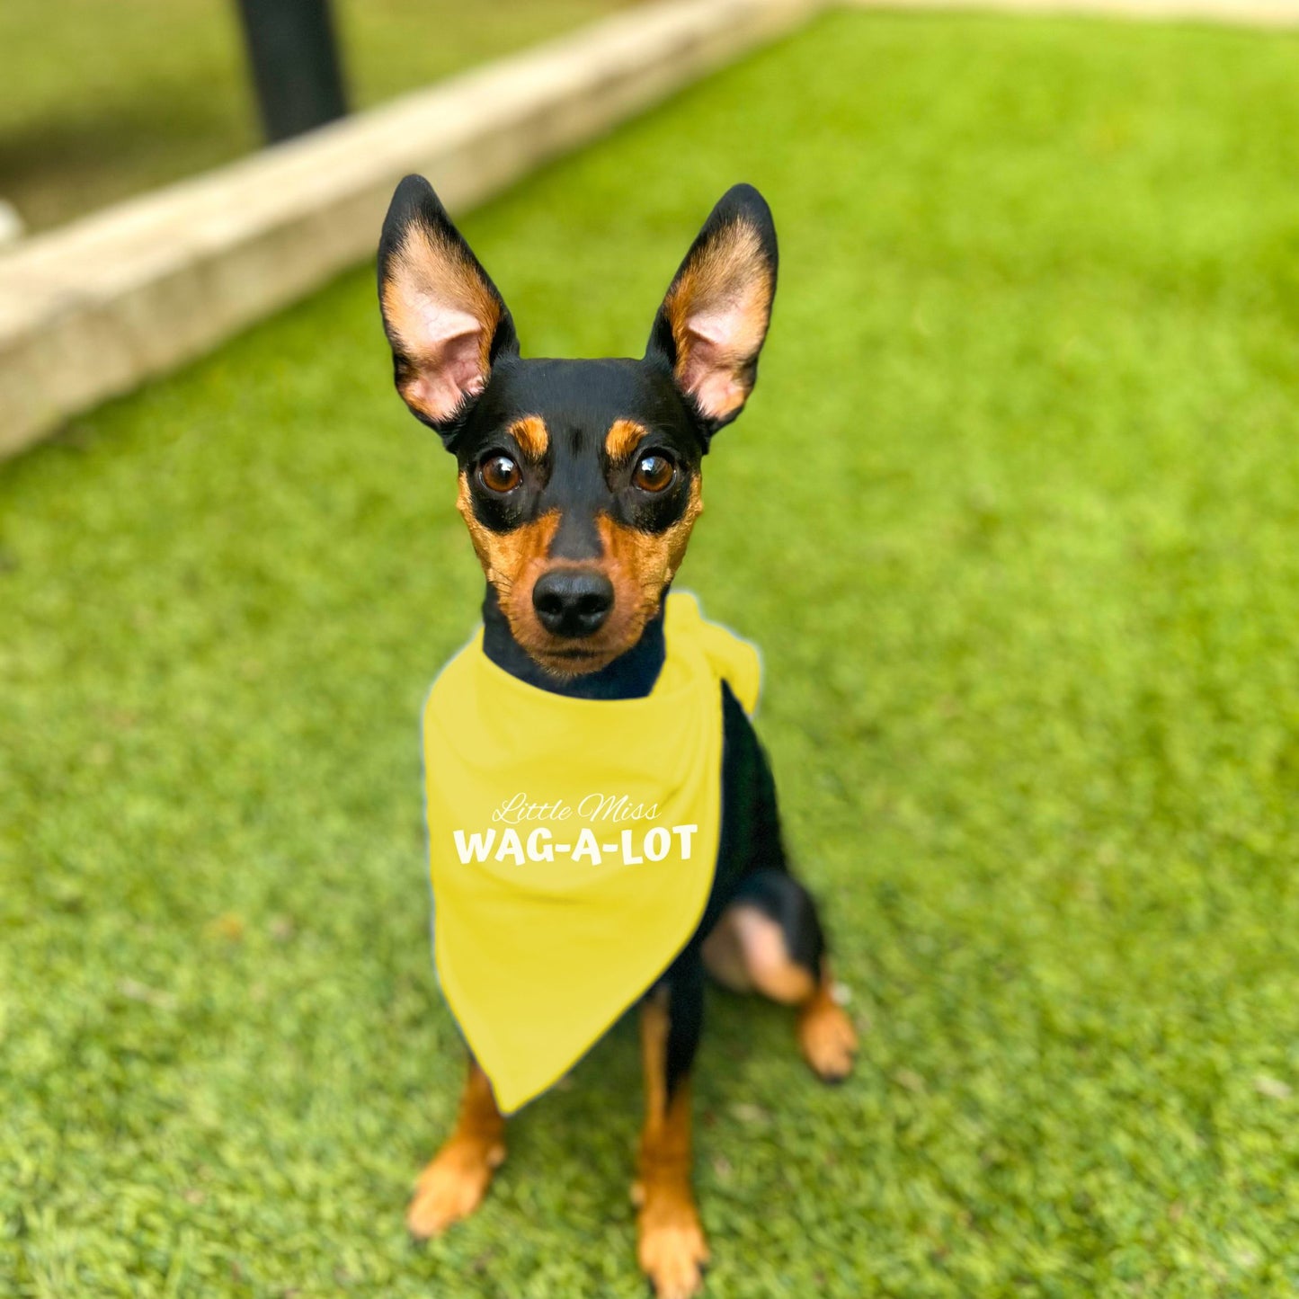
[[[717,864],[725,678],[747,712],[757,651],[668,598],[643,699],[569,699],[498,668],[479,633],[423,711],[438,978],[509,1113],[666,969]]]

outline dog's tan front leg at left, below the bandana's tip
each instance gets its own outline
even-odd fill
[[[469,1217],[482,1203],[492,1174],[505,1161],[505,1120],[487,1074],[469,1057],[456,1129],[420,1174],[407,1209],[412,1235],[430,1237]]]

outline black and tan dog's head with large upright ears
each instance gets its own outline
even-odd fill
[[[460,468],[457,507],[514,639],[557,675],[639,639],[703,508],[700,460],[757,375],[776,292],[763,196],[729,190],[642,360],[523,360],[509,309],[422,177],[379,243],[397,391]]]

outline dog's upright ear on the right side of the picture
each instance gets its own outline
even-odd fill
[[[751,184],[722,195],[655,317],[647,360],[665,362],[705,438],[740,413],[757,379],[776,295],[776,226]]]

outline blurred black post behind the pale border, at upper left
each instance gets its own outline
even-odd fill
[[[239,0],[268,142],[347,112],[329,0]]]

